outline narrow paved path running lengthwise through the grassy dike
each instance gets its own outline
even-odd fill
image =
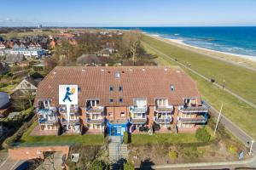
[[[205,79],[205,80],[207,80],[207,81],[210,81],[210,78],[207,78],[207,77],[201,75],[199,72],[194,71],[194,70],[191,69],[189,66],[184,65],[183,63],[181,63],[181,62],[175,60],[175,57],[172,57],[172,56],[170,56],[170,55],[164,54],[164,53],[161,52],[160,50],[158,50],[158,49],[152,47],[151,45],[149,45],[147,42],[143,42],[143,43],[146,44],[149,48],[151,48],[151,49],[153,49],[154,51],[156,51],[157,53],[162,54],[162,55],[166,56],[166,58],[171,59],[172,61],[176,62],[178,65],[182,65],[183,67],[185,67],[185,68],[188,69],[189,71],[193,72],[195,75],[197,75],[197,76],[199,76],[199,77],[201,77],[201,78],[203,78],[203,79]],[[215,86],[217,86],[218,88],[223,88],[222,85],[219,85],[217,82],[213,82],[213,84],[214,84]],[[224,91],[228,92],[229,94],[233,95],[233,96],[236,97],[237,99],[240,99],[241,101],[245,102],[247,105],[250,105],[250,106],[252,106],[254,109],[256,109],[256,105],[255,105],[255,104],[253,104],[252,102],[248,101],[247,99],[242,98],[240,95],[235,94],[234,92],[230,91],[230,90],[227,89],[227,88],[224,88]]]

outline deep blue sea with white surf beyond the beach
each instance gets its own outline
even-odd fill
[[[138,29],[154,36],[182,40],[199,48],[256,58],[256,26],[111,27],[111,29]]]

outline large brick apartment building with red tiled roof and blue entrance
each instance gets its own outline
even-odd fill
[[[79,105],[67,116],[58,103],[59,85],[78,85]],[[195,131],[207,123],[208,108],[195,82],[178,67],[55,67],[38,85],[34,106],[42,131],[157,133]]]

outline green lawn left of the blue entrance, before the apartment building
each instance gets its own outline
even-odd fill
[[[30,136],[32,129],[36,127],[38,122],[34,122],[28,128],[26,133],[20,139],[20,143],[24,145],[58,145],[58,144],[84,144],[84,145],[101,145],[104,142],[102,134],[84,134],[84,135],[61,135],[61,136]],[[22,144],[21,144],[22,145]]]

